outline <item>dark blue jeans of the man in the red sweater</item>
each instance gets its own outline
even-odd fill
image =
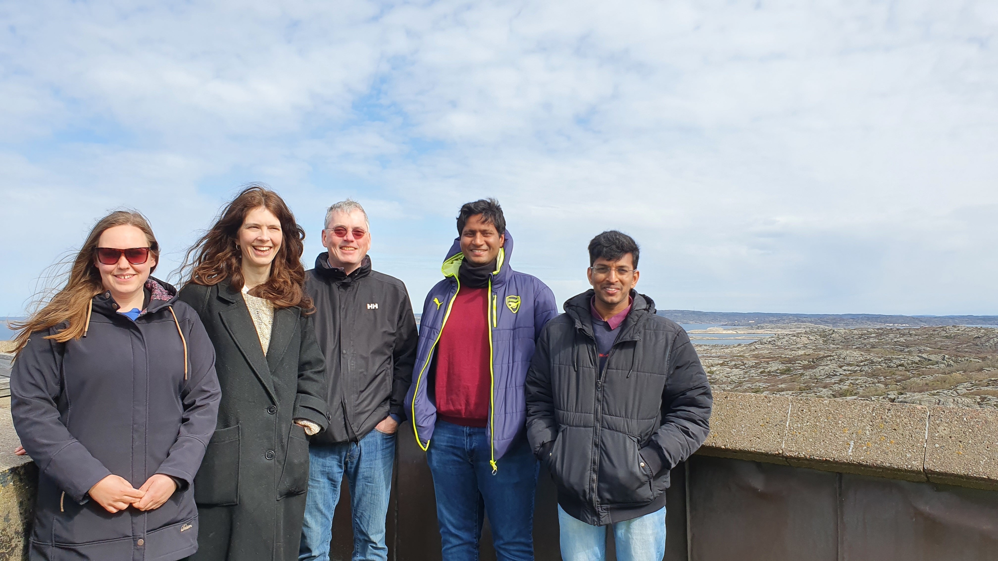
[[[534,559],[534,489],[538,462],[526,436],[489,465],[487,429],[438,420],[426,451],[446,561],[477,561],[488,514],[499,561]]]

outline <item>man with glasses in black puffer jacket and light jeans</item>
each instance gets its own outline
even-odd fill
[[[660,561],[669,470],[707,438],[712,395],[686,331],[634,290],[638,245],[589,245],[592,290],[544,327],[527,374],[527,436],[558,487],[565,561]]]

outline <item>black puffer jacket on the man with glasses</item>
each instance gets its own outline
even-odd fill
[[[544,327],[527,374],[527,437],[558,503],[602,526],[665,506],[669,470],[707,438],[713,397],[682,327],[634,302],[599,372],[590,300],[565,302]]]

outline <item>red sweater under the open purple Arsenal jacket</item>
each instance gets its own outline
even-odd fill
[[[492,385],[488,292],[462,286],[437,343],[437,416],[462,426],[488,425]]]

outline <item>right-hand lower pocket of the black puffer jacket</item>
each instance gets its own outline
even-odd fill
[[[642,504],[655,498],[652,469],[638,451],[638,438],[609,428],[600,431],[600,503]]]

